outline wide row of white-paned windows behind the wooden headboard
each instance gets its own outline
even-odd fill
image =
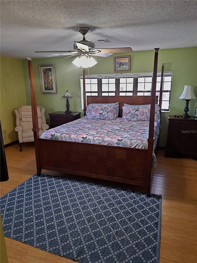
[[[153,73],[125,73],[86,75],[87,96],[150,96]],[[83,109],[83,81],[81,76],[81,94]],[[156,96],[160,93],[161,72],[157,72]],[[162,111],[170,110],[172,72],[163,72]]]

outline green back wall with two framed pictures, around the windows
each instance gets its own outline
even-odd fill
[[[95,57],[98,64],[92,68],[86,69],[86,74],[114,73],[114,56],[120,55],[128,55],[128,53],[114,54],[107,58]],[[139,73],[153,71],[154,50],[131,52],[130,55],[130,72]],[[69,100],[70,109],[72,111],[82,112],[80,100],[80,75],[82,74],[82,70],[72,64],[73,60],[73,57],[66,59],[61,59],[60,57],[32,59],[37,105],[45,107],[48,124],[48,113],[64,111],[66,109],[65,98],[62,98],[62,95],[67,89],[73,96],[73,98]],[[22,63],[27,102],[30,104],[27,60],[23,60]],[[159,50],[158,71],[161,71],[162,63],[165,63],[164,71],[173,72],[170,113],[162,113],[161,117],[162,130],[159,145],[165,146],[167,140],[168,115],[178,113],[181,115],[184,113],[183,109],[185,107],[185,100],[179,99],[184,85],[193,85],[197,97],[197,47]],[[57,94],[42,94],[38,65],[52,64],[54,64],[55,67]],[[192,116],[194,116],[195,107],[197,107],[197,100],[190,100],[188,113]],[[83,113],[81,116],[83,116]]]

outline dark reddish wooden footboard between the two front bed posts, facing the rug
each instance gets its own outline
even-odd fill
[[[147,150],[39,139],[41,169],[146,187]],[[151,176],[151,175],[150,175]],[[150,179],[150,178],[149,178]]]

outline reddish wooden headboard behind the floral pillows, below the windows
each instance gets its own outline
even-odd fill
[[[115,103],[119,102],[119,115],[123,117],[124,103],[131,105],[151,104],[151,96],[87,96],[87,105],[90,103]],[[158,103],[158,96],[155,97],[155,103]]]

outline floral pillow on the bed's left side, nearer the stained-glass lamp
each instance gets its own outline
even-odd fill
[[[119,105],[88,105],[86,119],[114,120]]]

